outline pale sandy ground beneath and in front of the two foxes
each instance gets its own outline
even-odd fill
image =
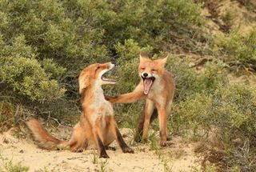
[[[122,129],[122,134],[130,135],[129,129]],[[129,143],[130,137],[126,137]],[[174,137],[169,146],[160,150],[159,157],[149,144],[132,146],[135,154],[122,154],[122,150],[107,150],[110,158],[98,158],[96,150],[71,153],[69,150],[48,151],[39,149],[30,139],[14,137],[12,130],[0,134],[0,166],[4,162],[22,162],[29,166],[29,171],[166,171],[165,161],[171,171],[191,171],[200,169],[200,160],[194,153],[194,143],[186,143],[182,138]]]

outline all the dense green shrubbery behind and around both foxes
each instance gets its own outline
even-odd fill
[[[170,130],[192,130],[196,138],[214,132],[226,157],[223,168],[253,170],[256,88],[231,85],[226,66],[254,72],[256,30],[211,37],[203,31],[201,7],[192,0],[0,0],[1,130],[30,114],[78,120],[77,78],[84,66],[117,62],[118,84],[106,93],[126,93],[138,83],[140,51],[153,58],[170,51],[166,69],[177,85]],[[177,57],[176,48],[212,61],[198,71],[188,65],[190,58]],[[118,122],[134,128],[142,103],[116,105]]]

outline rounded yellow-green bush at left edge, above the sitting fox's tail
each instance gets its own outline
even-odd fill
[[[0,40],[2,41],[2,40]],[[14,39],[13,46],[7,46],[2,41],[2,57],[0,58],[0,80],[2,90],[11,90],[18,95],[26,96],[38,102],[51,101],[60,98],[65,90],[61,89],[58,82],[51,79],[52,72],[48,74],[35,58],[30,46],[26,46],[23,36]],[[63,68],[46,63],[46,68],[51,66],[52,71],[62,73]],[[48,60],[49,61],[49,60]],[[48,67],[48,68],[49,68]]]

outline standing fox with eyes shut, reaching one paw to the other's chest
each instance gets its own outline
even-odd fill
[[[139,98],[146,98],[143,115],[138,120],[137,136],[135,137],[138,142],[141,138],[142,141],[146,140],[149,124],[158,114],[160,145],[166,146],[168,137],[166,122],[174,99],[175,87],[171,74],[164,69],[167,58],[168,55],[165,55],[157,60],[151,60],[147,54],[141,53],[138,74],[142,79],[134,91],[117,97],[106,96],[110,102],[135,102]]]

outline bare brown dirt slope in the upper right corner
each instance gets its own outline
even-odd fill
[[[254,0],[206,0],[202,15],[210,18],[207,22],[209,32],[216,34],[238,28],[243,33],[250,31],[255,24],[256,2]],[[252,10],[248,9],[251,7]]]

